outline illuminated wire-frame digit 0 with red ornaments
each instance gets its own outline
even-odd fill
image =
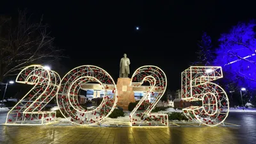
[[[100,105],[92,110],[84,109],[77,99],[81,86],[85,83],[100,83],[104,97]],[[113,97],[106,96],[111,90]],[[77,125],[93,125],[108,117],[117,102],[116,84],[112,77],[102,68],[83,65],[68,72],[61,80],[58,92],[58,106],[65,118]]]

